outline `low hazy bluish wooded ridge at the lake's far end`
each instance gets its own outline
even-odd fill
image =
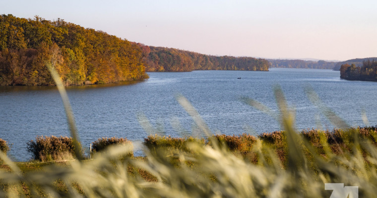
[[[288,60],[288,59],[268,59],[271,67],[278,68],[304,68],[304,69],[333,69],[336,62],[324,60]]]

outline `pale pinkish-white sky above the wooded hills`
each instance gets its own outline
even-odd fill
[[[0,0],[0,14],[64,19],[148,46],[210,55],[377,56],[377,0]]]

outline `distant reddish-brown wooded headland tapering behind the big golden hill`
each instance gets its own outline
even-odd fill
[[[149,52],[149,51],[148,51]],[[265,59],[213,56],[173,48],[150,46],[147,71],[248,70],[268,71]]]

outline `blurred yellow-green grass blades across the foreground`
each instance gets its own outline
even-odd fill
[[[180,104],[205,134],[206,144],[200,139],[184,138],[174,143],[177,149],[168,149],[166,145],[175,140],[155,136],[148,138],[162,143],[147,145],[145,158],[129,156],[132,145],[121,144],[97,152],[91,160],[81,160],[80,150],[76,149],[79,147],[75,147],[76,160],[63,165],[46,164],[36,171],[22,171],[24,167],[0,152],[0,196],[329,198],[332,192],[324,190],[325,183],[358,186],[363,198],[377,195],[376,128],[298,133],[294,112],[281,89],[275,88],[275,96],[280,109],[276,118],[284,132],[261,134],[258,138],[245,135],[251,147],[239,148],[236,136],[212,135],[194,107],[179,96]],[[74,144],[78,145],[69,102],[63,101]],[[253,100],[245,101],[264,108]],[[314,102],[323,107],[318,100]],[[323,107],[323,111],[335,123],[343,124],[328,108]],[[235,154],[233,148],[245,152]]]

